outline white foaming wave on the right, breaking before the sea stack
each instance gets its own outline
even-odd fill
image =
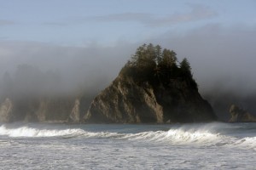
[[[121,139],[164,142],[168,144],[197,144],[201,146],[226,146],[256,150],[256,137],[236,138],[203,129],[184,130],[183,128],[168,131],[149,131],[126,134]]]

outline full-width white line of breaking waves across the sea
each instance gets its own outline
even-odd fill
[[[146,131],[141,133],[116,133],[116,132],[90,132],[82,128],[67,129],[46,129],[38,127],[0,127],[0,136],[8,136],[12,138],[37,138],[37,137],[63,137],[75,138],[78,136],[84,138],[99,139],[122,139],[136,140],[143,142],[158,142],[165,144],[187,145],[194,144],[200,146],[226,146],[239,147],[245,149],[256,150],[256,136],[253,137],[237,137],[223,133],[216,133],[211,129],[201,127],[196,128],[171,128],[167,131]]]

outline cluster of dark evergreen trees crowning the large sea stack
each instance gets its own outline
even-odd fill
[[[137,82],[154,81],[169,82],[170,79],[182,78],[197,88],[193,79],[188,59],[184,58],[179,65],[177,54],[170,49],[162,49],[160,45],[143,44],[137,48],[128,60],[121,73],[135,78]]]

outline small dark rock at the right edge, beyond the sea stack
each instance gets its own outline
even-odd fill
[[[236,105],[230,106],[230,115],[229,122],[256,122],[256,116],[242,110]]]

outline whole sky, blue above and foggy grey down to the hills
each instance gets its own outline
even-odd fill
[[[71,86],[102,88],[152,42],[188,58],[202,92],[256,92],[254,0],[0,3],[0,76],[27,64],[61,72]]]

